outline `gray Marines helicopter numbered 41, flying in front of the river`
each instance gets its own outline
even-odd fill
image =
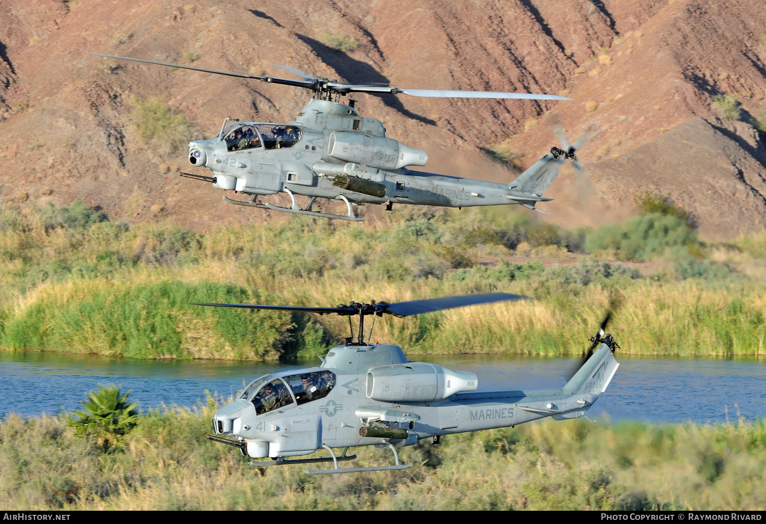
[[[336,313],[359,316],[358,339],[330,349],[314,368],[295,369],[257,378],[236,400],[218,410],[214,434],[208,440],[239,448],[258,467],[280,464],[332,462],[329,470],[306,470],[309,474],[403,470],[411,463],[399,461],[398,447],[418,440],[439,443],[441,435],[508,427],[552,417],[580,418],[603,393],[619,363],[619,348],[604,329],[616,304],[591,338],[583,364],[561,389],[530,391],[476,391],[479,381],[471,372],[456,372],[441,365],[410,362],[401,347],[372,339],[375,318],[430,313],[443,309],[522,300],[508,293],[449,296],[400,303],[349,303],[337,307],[268,306],[260,304],[199,303],[198,306],[276,309],[300,313]],[[373,323],[365,342],[365,316]],[[338,467],[349,447],[388,447],[394,464],[375,467]],[[287,459],[312,454],[322,448],[330,457]],[[342,448],[340,455],[336,449]]]

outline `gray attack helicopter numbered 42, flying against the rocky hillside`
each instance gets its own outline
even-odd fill
[[[231,204],[349,221],[364,220],[363,217],[355,216],[352,206],[365,204],[385,204],[388,211],[391,211],[394,204],[449,208],[519,204],[548,215],[535,208],[535,204],[552,200],[542,194],[552,184],[567,159],[575,161],[575,168],[579,168],[575,151],[581,143],[570,145],[560,135],[561,147],[552,147],[542,159],[509,184],[413,171],[407,166],[426,165],[427,152],[386,137],[386,129],[380,120],[360,116],[355,108],[355,100],[349,100],[349,103],[340,100],[351,93],[572,100],[567,97],[532,93],[400,89],[388,84],[343,84],[313,77],[293,67],[276,66],[303,78],[288,80],[110,54],[90,54],[262,80],[313,91],[313,98],[291,124],[240,122],[230,116],[224,119],[218,135],[209,140],[189,142],[191,165],[205,166],[212,172],[212,176],[191,173],[181,175],[212,182],[214,188],[251,195],[248,201],[222,197]],[[279,192],[290,195],[290,208],[258,201],[261,195]],[[295,195],[310,198],[306,208],[300,208]],[[316,198],[343,201],[347,213],[332,215],[313,211],[312,205]]]

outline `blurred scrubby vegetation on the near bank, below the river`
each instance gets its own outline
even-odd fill
[[[145,412],[119,446],[70,415],[0,421],[0,505],[16,509],[766,508],[766,424],[542,421],[423,441],[410,470],[313,477],[205,440],[217,408]],[[356,448],[358,466],[391,452]],[[326,452],[321,452],[317,456]],[[349,463],[345,463],[346,466]],[[319,467],[323,467],[319,464]]]

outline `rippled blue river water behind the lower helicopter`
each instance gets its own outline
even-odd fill
[[[412,357],[416,359],[415,357]],[[479,377],[480,391],[560,388],[578,359],[518,355],[429,355]],[[646,422],[735,422],[766,418],[766,359],[659,359],[617,355],[620,368],[590,418]],[[309,367],[278,362],[156,361],[94,355],[0,352],[0,415],[81,408],[99,384],[121,385],[141,408],[192,405],[206,393],[228,398],[258,375]]]

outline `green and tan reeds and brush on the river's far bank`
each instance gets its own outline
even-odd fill
[[[313,358],[349,336],[348,319],[191,303],[334,306],[504,291],[535,300],[378,319],[373,339],[408,355],[568,355],[582,351],[607,290],[617,287],[627,301],[610,329],[624,353],[766,354],[766,237],[704,243],[665,199],[644,195],[637,204],[636,218],[595,231],[504,208],[403,208],[365,224],[291,217],[207,234],[168,220],[110,221],[80,201],[7,205],[0,208],[0,347],[148,359]],[[502,260],[513,256],[577,260],[551,267]],[[646,260],[663,264],[637,269]]]

